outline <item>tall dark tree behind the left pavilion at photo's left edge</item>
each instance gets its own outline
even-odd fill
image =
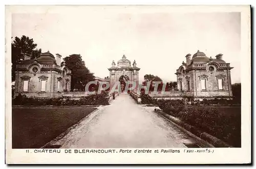
[[[33,38],[23,35],[21,38],[15,37],[12,42],[12,81],[15,81],[16,65],[24,60],[25,54],[31,59],[37,58],[41,54],[41,49],[36,49],[37,44]]]

